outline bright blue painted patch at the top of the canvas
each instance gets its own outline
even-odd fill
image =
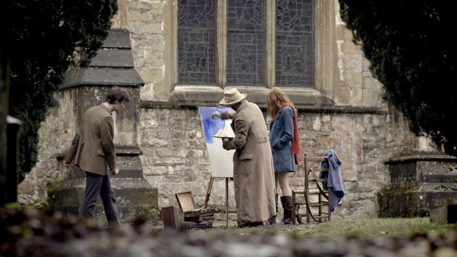
[[[231,108],[219,108],[219,107],[199,107],[200,117],[202,119],[203,131],[205,132],[205,140],[207,143],[212,143],[212,136],[219,131],[224,129],[226,121],[221,119],[213,119],[212,113],[214,111],[223,112],[226,110],[232,110]]]

